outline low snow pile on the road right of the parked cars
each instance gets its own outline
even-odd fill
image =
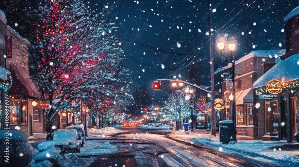
[[[118,151],[116,146],[109,142],[99,143],[97,141],[86,141],[84,147],[80,148],[80,153],[74,153],[77,157],[114,154]]]

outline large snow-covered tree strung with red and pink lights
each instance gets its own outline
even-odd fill
[[[35,24],[38,42],[32,48],[35,61],[31,67],[42,99],[50,101],[46,111],[50,140],[54,117],[75,98],[86,98],[88,104],[101,103],[107,108],[126,99],[122,97],[128,94],[129,74],[122,67],[124,53],[116,47],[119,41],[115,34],[103,37],[104,30],[108,34],[111,30],[102,24],[102,13],[91,10],[91,4],[83,0],[46,2],[41,3],[40,19]],[[125,77],[120,78],[120,73]],[[118,94],[120,98],[114,102]]]

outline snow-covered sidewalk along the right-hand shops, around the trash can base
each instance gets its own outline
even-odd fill
[[[237,135],[238,143],[222,144],[219,142],[219,134],[214,137],[210,133],[202,133],[202,131],[194,131],[194,133],[174,131],[170,135],[221,152],[242,154],[259,161],[277,163],[281,166],[299,166],[299,143],[297,142],[253,140],[253,137]]]

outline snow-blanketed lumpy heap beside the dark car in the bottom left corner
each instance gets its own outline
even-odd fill
[[[53,141],[45,141],[37,145],[37,153],[31,160],[28,167],[36,163],[48,160],[54,166],[60,166],[60,148],[55,149]]]

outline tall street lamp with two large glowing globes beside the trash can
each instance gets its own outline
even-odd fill
[[[216,42],[217,49],[220,52],[220,57],[228,60],[226,57],[223,57],[222,52],[226,49],[229,50],[232,60],[232,83],[230,84],[231,92],[229,95],[229,100],[231,100],[231,117],[233,121],[233,132],[231,134],[231,141],[237,142],[237,130],[236,130],[236,112],[235,112],[235,55],[234,51],[237,47],[237,41],[234,38],[229,38],[227,40],[227,34],[225,34],[225,38],[219,37]]]

